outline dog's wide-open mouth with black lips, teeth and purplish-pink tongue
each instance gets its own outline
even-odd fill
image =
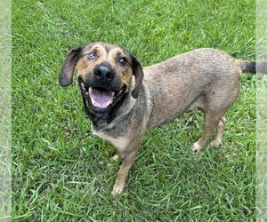
[[[85,99],[89,100],[90,105],[97,111],[108,110],[117,100],[121,99],[125,91],[125,87],[115,92],[101,87],[88,87],[83,82],[80,82],[80,87]]]

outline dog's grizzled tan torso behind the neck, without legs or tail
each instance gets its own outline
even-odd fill
[[[203,107],[209,95],[217,101],[235,100],[242,69],[229,54],[204,48],[145,67],[144,73],[144,83],[154,101],[150,118],[153,127],[171,122],[189,108]]]

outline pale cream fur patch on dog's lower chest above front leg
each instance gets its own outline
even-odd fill
[[[125,151],[125,148],[129,145],[129,140],[125,137],[117,137],[113,138],[107,135],[103,131],[93,131],[93,135],[99,136],[101,139],[105,139],[109,141],[109,143],[112,143],[120,152]]]

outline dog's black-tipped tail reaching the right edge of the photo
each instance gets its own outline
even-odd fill
[[[243,73],[263,73],[267,74],[267,62],[255,62],[247,60],[239,60]]]

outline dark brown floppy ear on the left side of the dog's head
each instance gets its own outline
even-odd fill
[[[61,68],[61,75],[59,79],[61,86],[68,86],[72,83],[74,69],[77,65],[77,59],[79,58],[82,49],[82,47],[72,49],[66,56],[63,63],[63,67]]]

